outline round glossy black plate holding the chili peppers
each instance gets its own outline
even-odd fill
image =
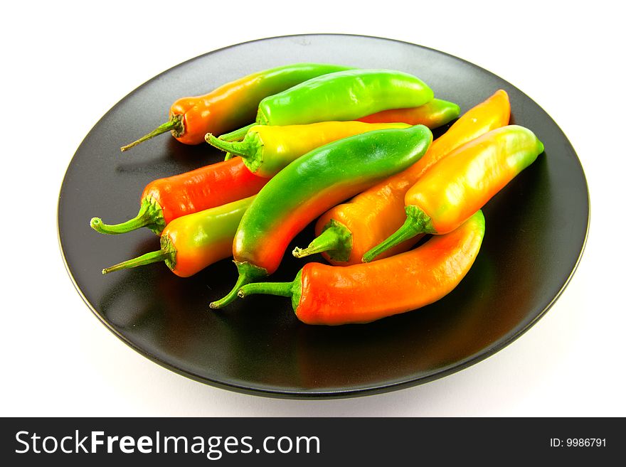
[[[470,273],[437,303],[367,325],[307,326],[290,301],[251,296],[223,311],[209,302],[234,284],[224,260],[181,279],[164,264],[102,276],[102,267],[158,249],[152,232],[98,235],[133,217],[154,178],[221,160],[208,145],[159,136],[126,144],[167,117],[171,102],[257,70],[297,62],[391,68],[418,75],[465,112],[502,88],[511,123],[536,132],[545,154],[484,208],[487,234]],[[60,190],[58,234],[76,288],[98,318],[151,360],[195,380],[281,397],[346,397],[448,375],[504,348],[561,294],[578,264],[589,220],[587,184],[556,123],[514,86],[445,53],[381,38],[288,36],[234,45],[177,65],[124,97],[87,135]],[[307,245],[312,226],[292,246]],[[290,250],[289,250],[290,251]],[[312,257],[319,261],[321,257]],[[292,280],[302,260],[285,257],[272,280]],[[375,292],[373,292],[375,293]]]

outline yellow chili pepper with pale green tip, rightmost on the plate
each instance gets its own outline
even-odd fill
[[[542,152],[533,132],[517,125],[494,129],[455,149],[406,192],[404,224],[366,252],[364,262],[420,233],[455,230]]]

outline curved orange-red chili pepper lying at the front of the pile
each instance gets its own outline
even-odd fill
[[[455,289],[474,264],[484,237],[475,213],[447,235],[410,252],[347,267],[308,263],[293,282],[248,284],[238,292],[288,296],[307,324],[369,323],[432,304]]]

